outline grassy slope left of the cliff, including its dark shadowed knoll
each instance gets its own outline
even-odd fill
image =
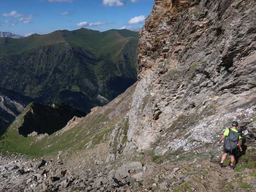
[[[77,109],[70,110],[63,104],[56,104],[56,107],[52,108],[32,102],[17,116],[6,133],[0,136],[0,153],[5,154],[6,151],[9,151],[26,154],[31,158],[53,158],[58,155],[59,151],[64,152],[63,156],[72,156],[74,152],[79,151],[84,153],[83,158],[87,159],[91,156],[86,155],[86,152],[93,150],[95,153],[102,153],[100,156],[105,156],[112,130],[118,122],[122,122],[122,127],[126,130],[124,134],[127,134],[128,120],[126,115],[130,108],[131,96],[135,87],[136,84],[106,106],[94,108],[84,118],[75,120],[75,126],[66,130],[64,128],[53,134],[54,127],[54,131],[56,131],[60,129],[61,124],[62,127],[66,125],[66,122],[61,120],[68,116],[67,111],[72,113],[73,116],[74,114],[78,115],[80,111]],[[116,108],[117,105],[121,107]],[[60,115],[63,117],[61,118]],[[33,130],[39,134],[47,132],[51,135],[27,136]],[[126,140],[127,137],[125,136],[123,141],[126,142]],[[90,160],[88,160],[89,162]]]

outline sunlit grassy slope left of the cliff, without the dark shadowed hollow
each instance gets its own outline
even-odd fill
[[[58,136],[55,134],[46,136],[38,142],[33,142],[35,137],[25,138],[17,133],[17,128],[24,122],[24,114],[30,109],[31,103],[2,136],[0,152],[17,152],[26,154],[30,158],[54,158],[59,151],[64,151],[64,156],[74,158],[74,153],[85,153],[91,148],[97,148],[100,144],[108,148],[109,136],[116,123],[126,116],[134,88],[135,85],[106,106],[88,114],[71,130]],[[122,108],[116,108],[117,105]],[[87,148],[90,141],[92,146]]]

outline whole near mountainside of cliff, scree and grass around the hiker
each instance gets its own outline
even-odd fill
[[[16,118],[3,191],[255,191],[256,2],[155,0],[137,54],[138,82],[54,134],[18,137]],[[234,120],[242,152],[219,168]]]

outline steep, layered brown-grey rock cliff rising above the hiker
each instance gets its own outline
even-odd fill
[[[255,15],[251,0],[154,2],[140,33],[127,147],[205,148],[233,120],[254,134]]]

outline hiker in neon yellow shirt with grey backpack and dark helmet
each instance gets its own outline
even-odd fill
[[[223,162],[226,159],[228,153],[230,155],[230,169],[234,170],[234,162],[235,162],[235,154],[237,145],[239,146],[240,151],[242,151],[242,147],[240,144],[240,139],[242,138],[238,130],[236,130],[238,127],[238,122],[233,121],[232,122],[232,128],[228,128],[225,130],[224,134],[220,138],[220,141],[218,144],[220,145],[222,140],[224,141],[224,154],[222,155],[221,162],[219,164],[219,167],[223,167]]]

